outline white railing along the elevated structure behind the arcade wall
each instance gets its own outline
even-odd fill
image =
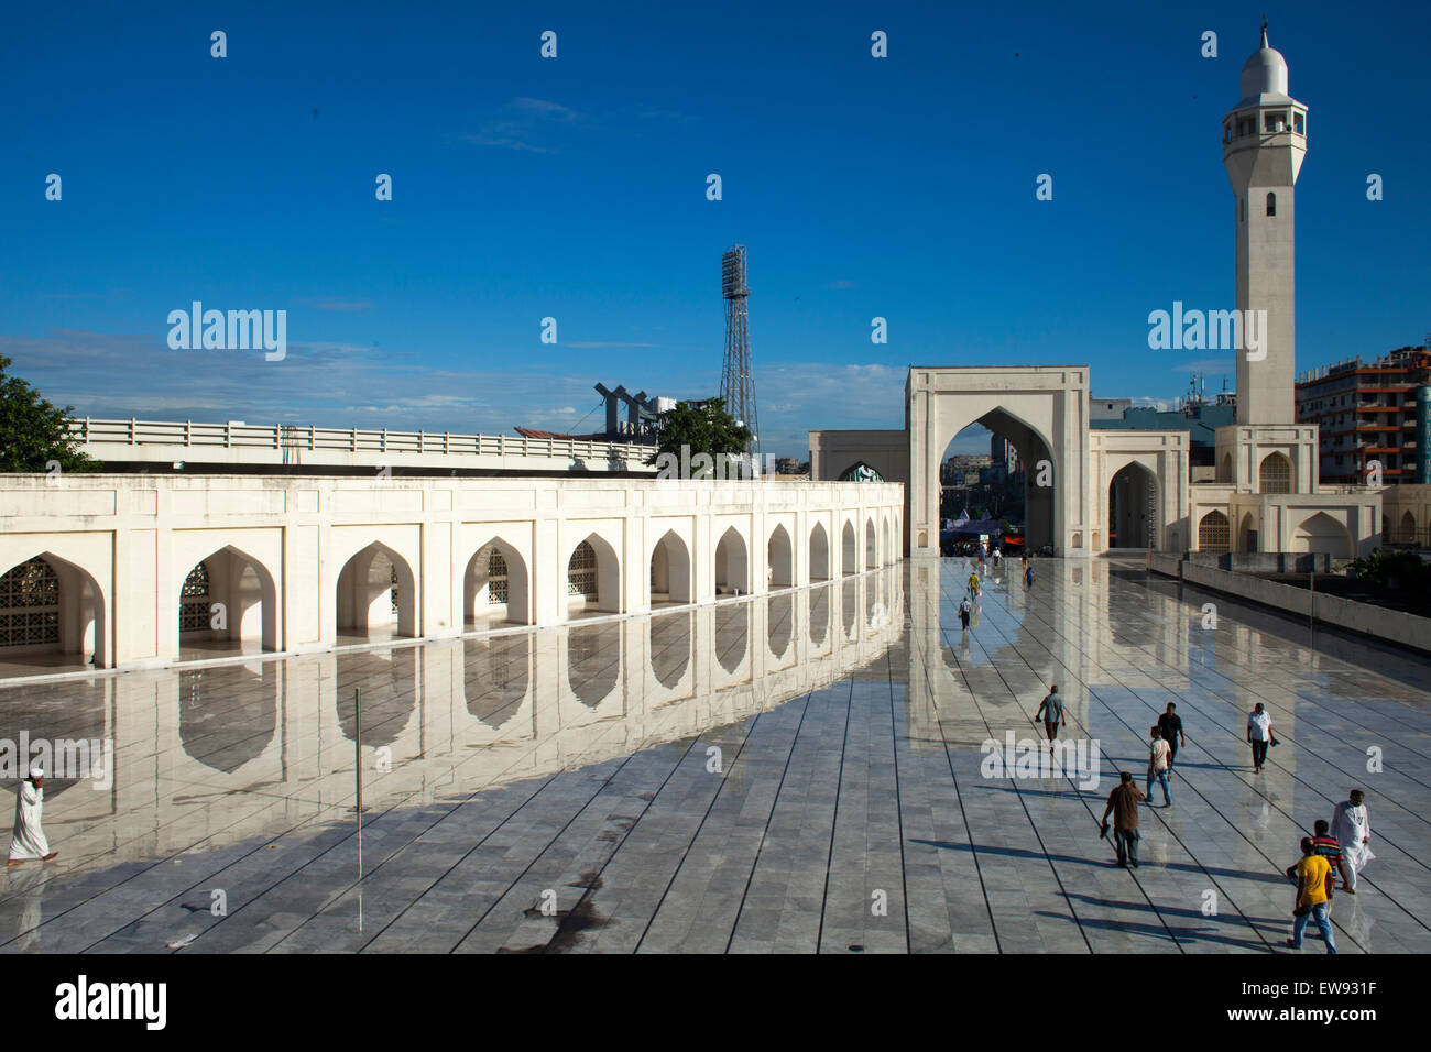
[[[448,431],[369,431],[288,424],[197,424],[195,421],[72,419],[70,435],[86,445],[177,445],[185,448],[335,452],[415,452],[458,457],[552,457],[644,467],[653,447],[580,442],[522,435],[454,435]],[[119,457],[116,451],[112,454]]]

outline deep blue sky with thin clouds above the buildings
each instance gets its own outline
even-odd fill
[[[900,427],[910,364],[1086,362],[1095,394],[1153,401],[1201,369],[1211,391],[1231,356],[1152,352],[1146,318],[1234,305],[1221,119],[1264,11],[1309,107],[1298,368],[1431,329],[1422,3],[303,10],[3,16],[0,354],[52,399],[585,431],[597,381],[717,391],[737,242],[766,452]],[[288,358],[169,349],[195,299],[286,309]]]

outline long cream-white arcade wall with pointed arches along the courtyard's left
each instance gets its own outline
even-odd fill
[[[398,633],[435,637],[464,631],[468,564],[489,542],[512,573],[509,620],[545,625],[572,614],[567,565],[584,540],[598,554],[594,605],[625,614],[650,608],[651,555],[667,535],[688,560],[688,594],[701,604],[716,598],[716,547],[727,531],[744,551],[741,591],[763,593],[777,527],[791,541],[796,585],[810,581],[816,524],[831,555],[839,545],[829,538],[850,525],[860,564],[873,524],[879,565],[897,561],[897,542],[884,538],[904,528],[897,484],[104,474],[50,482],[0,477],[0,573],[36,555],[73,568],[97,597],[90,637],[106,667],[175,660],[180,585],[225,548],[273,597],[272,614],[248,608],[243,624],[263,625],[265,648],[305,651],[332,647],[339,624],[355,620],[341,611],[339,577],[355,557],[355,567],[371,568],[375,545],[398,567]],[[847,570],[836,561],[833,574]]]

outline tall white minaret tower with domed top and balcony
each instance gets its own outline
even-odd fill
[[[1266,43],[1242,66],[1242,97],[1222,119],[1222,163],[1236,196],[1238,312],[1266,312],[1266,358],[1238,361],[1238,424],[1294,424],[1296,218],[1307,107],[1286,93],[1286,60]],[[1261,354],[1261,351],[1254,352]]]

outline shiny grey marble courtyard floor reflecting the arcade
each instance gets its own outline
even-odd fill
[[[1431,661],[1136,564],[1037,565],[1032,593],[992,581],[967,635],[969,568],[946,560],[562,630],[0,686],[0,737],[113,747],[47,781],[60,856],[7,870],[0,949],[1289,952],[1282,870],[1361,786],[1377,859],[1337,897],[1339,949],[1431,950]],[[980,746],[1032,740],[1050,681],[1092,771],[990,771]],[[1143,865],[1120,870],[1098,817],[1119,769],[1141,783],[1168,701],[1173,806],[1143,809]],[[1256,701],[1282,740],[1264,774]]]

